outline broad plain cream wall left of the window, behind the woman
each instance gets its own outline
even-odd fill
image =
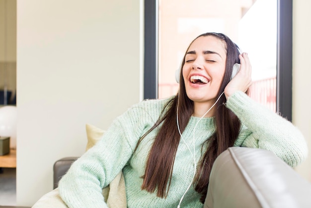
[[[142,98],[142,0],[17,0],[17,205]]]

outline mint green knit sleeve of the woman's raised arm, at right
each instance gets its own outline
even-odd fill
[[[292,122],[242,92],[234,93],[226,106],[244,125],[234,146],[270,150],[292,167],[307,158],[306,140]]]

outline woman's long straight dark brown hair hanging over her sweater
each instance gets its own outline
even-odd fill
[[[227,45],[226,71],[220,90],[218,92],[217,97],[219,97],[224,92],[227,84],[230,82],[233,64],[239,63],[239,51],[233,41],[222,33],[204,33],[198,37],[209,35],[221,39]],[[194,40],[196,40],[198,37],[196,37]],[[185,56],[183,58],[181,69],[184,63]],[[141,137],[136,146],[137,148],[141,140],[162,123],[148,156],[145,175],[143,176],[144,181],[142,184],[142,189],[145,189],[151,193],[155,192],[157,188],[156,195],[157,197],[161,198],[165,198],[169,191],[175,155],[180,140],[180,135],[176,125],[177,104],[178,123],[181,133],[186,128],[186,125],[194,111],[193,101],[191,101],[186,94],[185,83],[182,77],[182,70],[180,70],[179,80],[179,99],[178,95],[176,95],[164,106],[163,111],[155,125]],[[233,146],[240,130],[239,119],[231,110],[223,105],[223,103],[226,103],[225,96],[222,96],[219,102],[214,106],[217,109],[215,110],[214,119],[216,130],[210,138],[206,138],[206,142],[208,144],[207,150],[204,152],[200,162],[198,163],[198,169],[194,180],[195,190],[202,195],[200,199],[202,203],[206,198],[209,176],[215,159],[228,147]]]

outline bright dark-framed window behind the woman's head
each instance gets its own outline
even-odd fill
[[[195,15],[192,17],[187,17],[186,15],[183,15],[181,18],[177,20],[177,18],[174,19],[174,14],[171,12],[171,8],[174,8],[174,11],[181,12],[182,9],[176,8],[176,5],[182,5],[186,8],[189,8],[188,11],[191,9],[194,10],[191,6],[193,6],[192,1],[190,5],[186,5],[185,3],[180,4],[180,1],[173,3],[173,1],[163,1],[165,4],[173,5],[174,7],[171,7],[170,5],[163,6],[161,0],[153,0],[146,1],[145,3],[145,98],[161,98],[161,97],[167,97],[169,95],[176,94],[176,89],[178,86],[174,82],[174,71],[179,67],[179,62],[182,59],[182,55],[184,51],[186,50],[185,47],[182,44],[188,44],[193,38],[195,38],[198,34],[201,34],[206,31],[216,31],[216,32],[224,32],[225,34],[228,34],[234,42],[236,42],[242,50],[249,51],[250,49],[247,48],[248,44],[243,44],[241,40],[245,40],[244,38],[238,38],[237,34],[247,34],[243,32],[243,25],[246,25],[246,28],[253,24],[255,24],[257,27],[258,22],[254,23],[254,20],[259,19],[260,22],[265,22],[262,18],[262,10],[260,11],[260,6],[262,6],[262,2],[266,3],[269,0],[257,0],[255,2],[248,1],[248,4],[240,4],[237,5],[236,2],[228,1],[229,3],[232,2],[231,5],[228,4],[227,7],[221,6],[219,8],[223,9],[223,12],[217,11],[215,9],[215,6],[217,5],[216,1],[213,1],[213,9],[211,10],[211,14],[213,14],[210,17],[202,17],[199,15]],[[188,2],[188,1],[186,1]],[[196,1],[198,2],[198,1]],[[206,1],[204,1],[206,3]],[[246,2],[246,1],[243,1]],[[215,4],[216,3],[216,4]],[[271,2],[270,2],[271,3]],[[197,3],[200,4],[200,3]],[[202,9],[201,11],[205,11],[208,8],[204,8],[202,4],[200,4]],[[210,6],[210,7],[212,7]],[[232,11],[233,8],[235,9],[234,12]],[[257,11],[255,10],[257,9]],[[165,10],[168,9],[168,12]],[[169,10],[171,9],[171,10]],[[259,9],[259,10],[258,10]],[[263,9],[263,8],[261,8]],[[262,50],[265,50],[266,53],[269,53],[269,57],[274,57],[275,60],[272,60],[274,63],[274,66],[270,66],[268,64],[268,60],[264,58],[261,54],[256,55],[257,57],[260,57],[257,60],[251,60],[252,65],[254,68],[254,64],[257,64],[258,72],[257,75],[255,74],[255,79],[253,78],[254,86],[252,86],[252,90],[255,91],[258,89],[262,89],[262,85],[266,86],[266,89],[270,89],[269,91],[264,92],[256,92],[253,93],[253,95],[261,95],[260,97],[263,97],[262,102],[265,102],[268,107],[270,107],[273,110],[276,110],[278,112],[281,112],[284,116],[286,116],[289,120],[291,120],[291,105],[292,105],[292,94],[291,94],[291,86],[292,86],[292,1],[290,0],[278,0],[275,1],[275,4],[270,7],[264,7],[264,12],[267,14],[267,12],[270,9],[274,9],[277,12],[270,12],[274,13],[274,25],[270,24],[268,26],[268,23],[273,22],[271,20],[268,23],[264,23],[259,31],[256,31],[256,33],[260,33],[260,36],[262,39],[266,37],[274,37],[274,40],[272,40],[272,43],[267,43],[267,40],[265,40],[265,47],[261,47]],[[214,11],[215,10],[215,11]],[[152,11],[152,12],[151,12]],[[196,10],[198,11],[198,10]],[[189,12],[188,12],[189,13]],[[197,13],[204,13],[204,12],[197,12]],[[227,14],[225,18],[220,18],[219,14]],[[165,17],[164,23],[161,25],[160,21],[161,18],[163,18],[163,15],[170,15],[170,18]],[[257,17],[256,17],[257,15]],[[147,17],[149,16],[149,18]],[[153,18],[151,18],[152,16]],[[156,18],[158,16],[158,18]],[[259,16],[259,17],[258,17]],[[246,19],[250,19],[249,21]],[[170,20],[170,19],[173,20]],[[158,23],[159,19],[159,23]],[[245,20],[246,19],[246,20]],[[151,21],[150,21],[151,20]],[[173,22],[170,22],[173,21]],[[229,21],[229,23],[228,23]],[[269,21],[269,19],[268,19]],[[236,22],[238,22],[239,26],[236,26]],[[214,26],[210,26],[213,25]],[[234,26],[235,23],[235,26]],[[203,29],[204,31],[201,31],[200,28],[198,28],[200,25],[209,25],[209,29]],[[180,26],[181,25],[181,26]],[[190,27],[190,28],[189,28]],[[197,27],[197,28],[196,28]],[[170,37],[167,37],[169,35],[164,35],[163,28],[165,30],[168,30],[172,32],[173,30],[181,32],[181,35],[173,35]],[[194,30],[194,28],[197,29],[199,32],[193,32],[193,34],[189,34]],[[239,29],[238,29],[239,28]],[[244,26],[245,28],[245,26]],[[226,29],[228,31],[226,31]],[[254,29],[252,29],[254,30]],[[151,31],[154,31],[155,33],[152,33]],[[201,31],[201,32],[200,32]],[[247,31],[247,30],[246,30]],[[148,33],[149,32],[149,33]],[[151,34],[152,33],[152,34]],[[184,34],[188,33],[190,36],[189,38],[186,37]],[[248,31],[249,33],[249,31]],[[254,40],[246,40],[245,42],[252,42],[253,44],[256,44],[258,37],[254,37],[254,34],[247,36],[253,37]],[[152,38],[154,39],[152,39]],[[150,38],[148,40],[148,38]],[[178,38],[182,39],[179,40]],[[188,39],[187,39],[188,38]],[[163,54],[161,52],[162,47],[160,42],[163,41],[163,39],[166,40],[166,45],[169,45],[169,49],[177,46],[180,47],[181,52],[172,53],[171,51],[168,51],[166,49],[166,54]],[[176,44],[173,40],[177,39],[178,44]],[[171,41],[170,41],[171,40]],[[260,40],[260,39],[259,39]],[[165,41],[164,41],[165,42]],[[159,44],[158,44],[159,43]],[[262,42],[260,42],[262,44]],[[267,45],[270,45],[272,48],[274,47],[274,50],[268,49]],[[256,48],[256,46],[255,46]],[[261,52],[262,53],[262,52]],[[148,58],[147,58],[148,57]],[[149,62],[147,59],[153,59],[153,62]],[[163,63],[169,63],[170,65],[164,66]],[[269,62],[270,63],[270,62]],[[163,65],[163,66],[162,66]],[[268,68],[274,68],[273,70],[264,69],[268,73],[263,73],[263,67]],[[159,68],[159,71],[157,71]],[[161,72],[161,69],[165,70],[165,73]],[[260,71],[261,70],[261,71]],[[262,81],[262,78],[260,78],[263,74],[265,74],[264,81]],[[269,75],[270,74],[270,75]],[[268,79],[269,76],[271,79]],[[169,80],[169,82],[167,81]],[[161,87],[157,86],[157,83],[161,85]],[[259,86],[259,87],[258,87]],[[286,92],[286,93],[285,93]],[[261,99],[262,98],[254,98],[254,99]]]

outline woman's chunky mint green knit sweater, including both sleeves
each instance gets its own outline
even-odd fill
[[[173,175],[166,199],[141,190],[146,160],[157,128],[147,135],[134,153],[139,138],[156,122],[168,99],[143,101],[117,117],[97,144],[83,154],[62,178],[59,191],[69,208],[105,208],[102,188],[123,170],[129,208],[176,208],[192,180],[193,158],[180,140]],[[288,120],[236,92],[226,106],[243,126],[234,146],[262,148],[274,152],[292,167],[307,157],[308,149],[301,132]],[[193,129],[198,117],[191,117],[182,136],[193,151]],[[203,118],[195,129],[196,161],[201,145],[215,130],[214,118]],[[202,208],[193,186],[186,193],[182,208]]]

